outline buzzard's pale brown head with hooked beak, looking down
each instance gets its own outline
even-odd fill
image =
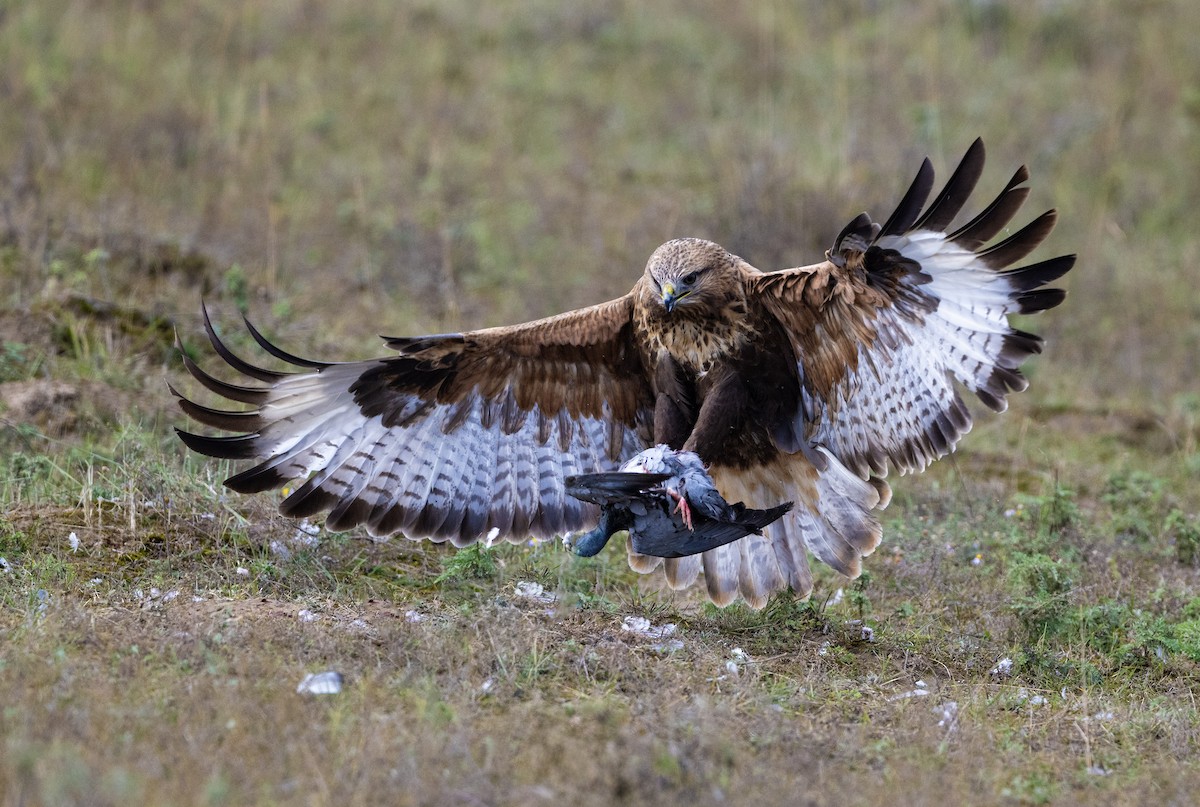
[[[654,250],[646,264],[646,280],[667,313],[701,303],[712,306],[728,294],[736,262],[712,241],[677,238]]]

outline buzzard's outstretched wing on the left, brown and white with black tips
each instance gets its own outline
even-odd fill
[[[460,546],[548,538],[596,519],[565,494],[565,477],[613,471],[648,444],[653,399],[630,311],[626,297],[509,328],[394,337],[397,355],[352,363],[294,357],[247,322],[294,372],[235,355],[205,311],[217,354],[262,385],[220,381],[185,354],[204,387],[253,408],[211,410],[175,393],[193,419],[241,432],[179,436],[202,454],[259,460],[226,480],[239,492],[296,480],[280,510],[330,510],[331,530],[366,525]]]

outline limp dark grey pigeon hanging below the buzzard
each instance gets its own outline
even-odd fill
[[[654,446],[619,471],[566,478],[566,492],[600,506],[600,524],[578,536],[571,549],[592,557],[622,530],[634,551],[655,557],[684,557],[761,534],[790,509],[785,502],[766,510],[730,504],[718,492],[694,452]]]

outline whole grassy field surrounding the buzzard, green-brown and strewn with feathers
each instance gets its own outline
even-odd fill
[[[1105,803],[1200,790],[1200,6],[0,8],[0,801]],[[288,349],[763,269],[980,134],[1079,252],[1031,390],[808,603],[330,534],[186,456],[199,301]],[[233,339],[234,347],[246,347]],[[977,407],[978,408],[978,407]],[[673,627],[668,627],[673,626]],[[301,695],[335,670],[340,694]]]

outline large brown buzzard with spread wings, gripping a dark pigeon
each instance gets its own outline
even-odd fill
[[[661,558],[629,546],[629,563],[661,566],[673,588],[703,574],[719,605],[754,608],[812,587],[808,554],[856,576],[881,538],[876,510],[889,471],[923,470],[971,428],[956,384],[994,411],[1024,390],[1019,366],[1042,339],[1009,315],[1054,307],[1046,288],[1074,256],[1013,267],[1054,227],[1048,211],[998,243],[1028,189],[1021,167],[976,216],[952,228],[983,172],[976,141],[946,186],[926,159],[882,223],[865,213],[826,259],[763,273],[719,245],[682,238],[654,251],[625,295],[524,324],[386,339],[385,358],[325,363],[292,355],[253,327],[278,371],[229,351],[205,312],[217,354],[257,384],[218,379],[217,395],[180,397],[199,423],[192,449],[256,460],[230,477],[256,492],[296,480],[280,504],[329,510],[326,526],[469,544],[521,542],[593,527],[594,504],[566,477],[616,471],[662,443],[695,452],[721,496],[764,509],[794,502],[762,536]]]

